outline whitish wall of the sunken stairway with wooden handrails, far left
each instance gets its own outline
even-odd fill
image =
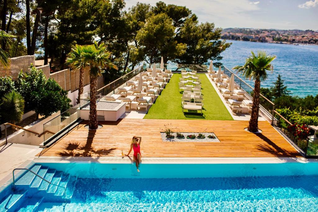
[[[48,122],[49,120],[59,116],[60,111],[52,114],[51,116],[45,119],[39,119],[32,124],[24,127],[25,129],[29,129],[31,131],[37,132],[39,134],[43,133],[43,124]],[[16,143],[16,144],[28,144],[28,145],[40,145],[44,142],[44,135],[38,137],[38,135],[34,133],[30,133],[24,131],[22,129],[8,136],[8,143]],[[0,146],[5,144],[5,138],[0,140]]]

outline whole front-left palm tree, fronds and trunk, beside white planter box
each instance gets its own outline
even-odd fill
[[[96,110],[96,85],[97,77],[101,75],[103,69],[105,68],[114,68],[117,69],[117,66],[114,65],[111,60],[111,52],[106,50],[104,44],[98,45],[96,42],[92,45],[82,46],[82,59],[83,62],[90,66],[89,73],[89,88],[90,88],[90,109],[89,109],[89,128],[97,129],[97,110]]]

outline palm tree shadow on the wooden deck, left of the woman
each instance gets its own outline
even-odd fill
[[[96,130],[89,130],[87,135],[86,144],[80,146],[79,143],[70,142],[64,145],[64,151],[59,152],[60,156],[73,156],[73,157],[103,157],[110,154],[116,148],[110,149],[94,149],[92,147]]]

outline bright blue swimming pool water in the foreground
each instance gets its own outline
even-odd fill
[[[16,211],[318,211],[316,162],[36,166],[61,185],[69,176],[68,198],[30,192]]]

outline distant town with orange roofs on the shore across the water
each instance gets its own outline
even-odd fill
[[[318,45],[318,31],[226,28],[222,39],[281,44]]]

